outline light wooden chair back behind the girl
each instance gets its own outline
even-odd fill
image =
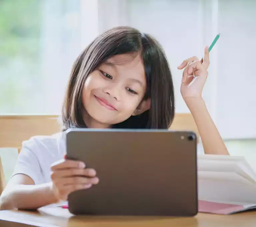
[[[34,135],[52,135],[60,131],[57,115],[6,115],[0,116],[0,148],[21,149],[23,140]],[[194,119],[189,113],[178,113],[170,127],[173,130],[192,130],[197,133]],[[199,136],[199,135],[198,135]],[[0,194],[6,185],[0,158]]]

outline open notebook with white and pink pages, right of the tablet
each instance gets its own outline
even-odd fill
[[[200,212],[231,214],[255,209],[256,173],[244,157],[199,155],[198,199]]]

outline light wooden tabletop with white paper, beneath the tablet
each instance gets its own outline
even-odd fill
[[[195,217],[74,216],[68,209],[49,205],[38,211],[0,211],[1,227],[255,227],[256,211],[232,215],[198,213]]]

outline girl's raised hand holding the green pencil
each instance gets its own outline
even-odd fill
[[[208,47],[204,50],[203,63],[197,57],[184,60],[178,69],[183,71],[180,87],[181,95],[186,101],[187,98],[202,98],[202,91],[208,76],[207,69],[210,65]]]

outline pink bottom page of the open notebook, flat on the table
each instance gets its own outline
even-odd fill
[[[234,214],[247,210],[256,209],[256,204],[235,205],[226,203],[208,202],[204,200],[198,201],[198,212],[211,214]]]

